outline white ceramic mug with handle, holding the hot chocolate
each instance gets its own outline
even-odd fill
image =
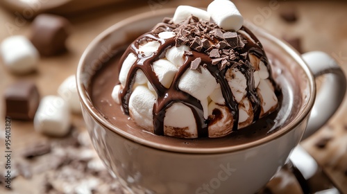
[[[144,132],[111,125],[95,109],[88,89],[93,69],[99,67],[93,67],[92,61],[105,55],[101,48],[126,44],[129,35],[144,33],[173,14],[173,9],[160,10],[121,21],[96,37],[83,54],[77,72],[78,93],[94,148],[110,173],[132,193],[255,193],[286,163],[303,136],[334,114],[346,91],[344,73],[325,53],[306,53],[301,58],[280,39],[246,24],[264,45],[266,55],[286,66],[289,81],[296,85],[294,99],[287,104],[295,108],[288,111],[280,130],[223,148],[183,148],[149,141]],[[327,79],[316,98],[314,78],[321,74],[327,74]]]

